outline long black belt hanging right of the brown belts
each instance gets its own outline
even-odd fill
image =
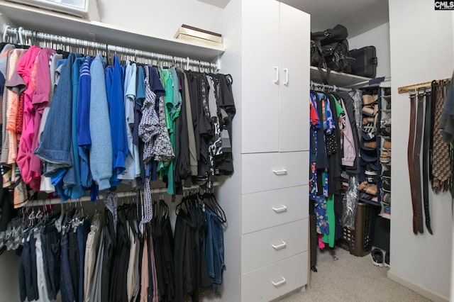
[[[423,134],[423,205],[424,217],[426,218],[426,228],[429,234],[432,235],[431,216],[428,207],[428,165],[429,165],[429,145],[432,141],[432,95],[431,92],[426,93],[426,115],[424,116],[424,134]],[[418,132],[416,132],[418,133]]]

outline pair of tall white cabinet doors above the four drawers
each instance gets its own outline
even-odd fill
[[[260,11],[258,11],[260,8]],[[309,150],[309,15],[277,1],[241,2],[241,151]]]

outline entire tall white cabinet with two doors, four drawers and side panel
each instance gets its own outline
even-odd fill
[[[275,0],[231,0],[226,52],[238,104],[236,170],[218,187],[228,216],[222,301],[304,288],[309,227],[309,15]]]

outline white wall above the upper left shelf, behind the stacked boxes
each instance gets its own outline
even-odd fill
[[[99,0],[101,21],[132,32],[173,38],[182,24],[220,32],[222,9],[197,0]]]

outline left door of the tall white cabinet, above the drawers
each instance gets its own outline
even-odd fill
[[[241,152],[279,151],[279,2],[241,2]]]

